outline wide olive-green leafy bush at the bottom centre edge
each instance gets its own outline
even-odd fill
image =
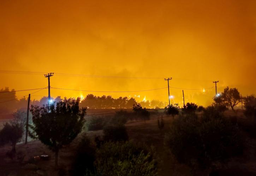
[[[96,152],[95,175],[156,176],[154,150],[133,141],[108,142]]]

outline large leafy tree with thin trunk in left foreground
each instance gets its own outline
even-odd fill
[[[55,152],[55,166],[58,166],[58,152],[77,137],[84,125],[86,108],[79,109],[80,99],[64,99],[43,107],[31,106],[34,126],[30,125],[30,136]]]

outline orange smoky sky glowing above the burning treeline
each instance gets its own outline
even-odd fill
[[[105,91],[167,87],[163,78],[173,77],[170,86],[184,88],[186,102],[209,105],[213,81],[220,81],[218,92],[226,86],[256,92],[255,9],[254,0],[2,0],[0,70],[162,77],[51,77],[52,87]],[[0,80],[0,88],[48,86],[43,75],[0,73]],[[51,90],[62,97],[88,93]],[[94,94],[168,101],[167,89]],[[170,94],[182,103],[182,89]],[[45,89],[32,99],[47,95]]]

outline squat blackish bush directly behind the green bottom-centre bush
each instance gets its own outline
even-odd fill
[[[128,134],[124,125],[108,125],[103,128],[104,141],[126,141]]]

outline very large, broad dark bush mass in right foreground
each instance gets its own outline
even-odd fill
[[[207,117],[206,113],[202,119],[196,115],[175,119],[167,133],[166,144],[179,162],[198,164],[202,168],[243,151],[241,133],[220,114]]]

